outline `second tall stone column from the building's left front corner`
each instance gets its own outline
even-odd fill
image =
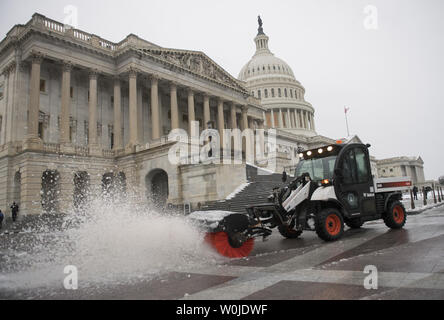
[[[71,114],[71,70],[72,64],[69,62],[63,63],[62,73],[62,106],[60,112],[60,143],[69,144],[71,140],[69,138],[70,126],[69,116]]]

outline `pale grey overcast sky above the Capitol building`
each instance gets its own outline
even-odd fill
[[[420,155],[427,179],[444,175],[443,0],[0,0],[0,37],[34,12],[64,22],[69,5],[81,30],[203,51],[235,77],[254,54],[260,14],[319,134],[345,136],[347,106],[351,133],[372,155]]]

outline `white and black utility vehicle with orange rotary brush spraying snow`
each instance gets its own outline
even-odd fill
[[[268,203],[246,207],[245,214],[219,212],[207,222],[206,241],[225,257],[242,258],[253,250],[255,238],[265,241],[275,228],[289,239],[315,231],[324,241],[340,239],[344,224],[360,228],[383,219],[389,228],[402,228],[402,192],[412,186],[411,179],[374,179],[369,148],[338,141],[300,153],[292,181],[274,188]]]

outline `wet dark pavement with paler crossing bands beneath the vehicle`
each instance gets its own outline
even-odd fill
[[[1,255],[0,255],[1,259]],[[365,269],[371,268],[370,273]],[[372,288],[366,287],[371,276]],[[376,277],[375,277],[376,276]],[[116,285],[3,290],[0,299],[399,300],[444,299],[444,206],[408,216],[404,229],[382,221],[347,229],[337,242],[313,232],[256,240],[250,257],[159,272]]]

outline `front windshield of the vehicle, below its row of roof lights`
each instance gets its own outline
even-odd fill
[[[313,181],[332,179],[337,156],[301,160],[296,167],[296,177],[308,173]]]

